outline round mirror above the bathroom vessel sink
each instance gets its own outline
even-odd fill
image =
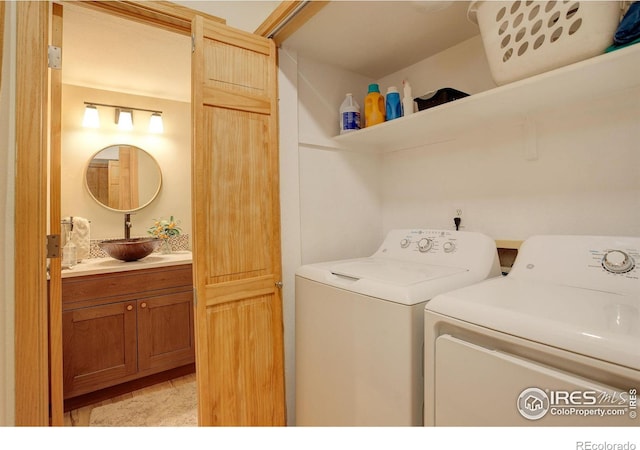
[[[89,160],[85,184],[91,197],[113,211],[136,211],[160,192],[162,172],[157,161],[133,145],[111,145]]]

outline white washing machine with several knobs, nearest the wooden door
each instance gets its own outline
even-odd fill
[[[371,257],[296,272],[296,424],[422,425],[424,305],[498,276],[480,233],[393,230]]]

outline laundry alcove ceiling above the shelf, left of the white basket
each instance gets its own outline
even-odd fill
[[[467,1],[333,1],[283,47],[379,79],[480,33]]]

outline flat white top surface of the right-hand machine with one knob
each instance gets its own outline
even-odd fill
[[[455,319],[640,370],[640,297],[494,278],[426,305]]]

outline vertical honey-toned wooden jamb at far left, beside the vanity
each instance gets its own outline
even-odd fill
[[[59,199],[54,177],[59,183],[61,78],[47,66],[47,48],[61,42],[61,13],[48,2],[16,4],[14,298],[15,423],[19,426],[63,423],[60,262],[51,259],[47,283],[43,245],[46,234],[60,230],[59,202],[53,196]]]

